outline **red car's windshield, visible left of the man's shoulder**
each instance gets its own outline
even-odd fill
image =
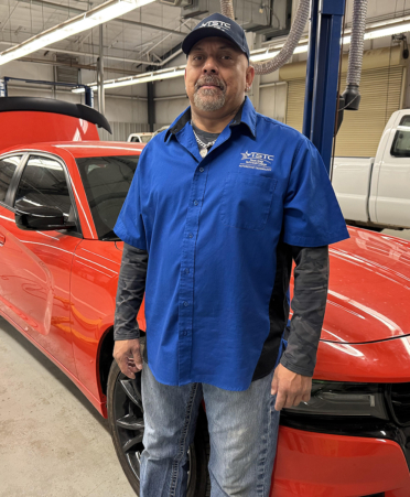
[[[115,239],[114,226],[139,155],[76,159],[99,239]]]

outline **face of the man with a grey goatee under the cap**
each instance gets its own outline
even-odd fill
[[[246,55],[229,40],[213,36],[198,41],[191,50],[185,71],[190,102],[201,114],[219,109],[233,112],[253,80],[253,68]],[[216,112],[219,114],[219,112]]]

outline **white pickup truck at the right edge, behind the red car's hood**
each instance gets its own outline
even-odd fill
[[[410,228],[410,109],[391,115],[376,158],[335,158],[332,184],[347,224]]]

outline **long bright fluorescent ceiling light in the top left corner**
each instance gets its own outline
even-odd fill
[[[154,0],[110,0],[95,9],[79,14],[68,21],[63,22],[50,30],[43,31],[40,34],[26,40],[20,45],[6,50],[0,54],[0,65],[6,64],[15,58],[36,52],[53,43],[65,40],[68,36],[80,33],[82,31],[90,30],[96,25],[108,22],[111,19],[119,18],[131,10],[151,3]]]

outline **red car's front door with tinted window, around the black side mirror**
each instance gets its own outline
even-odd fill
[[[21,164],[7,214],[2,217],[1,260],[8,268],[1,281],[9,315],[65,368],[75,374],[71,331],[69,279],[80,227],[73,231],[20,229],[15,203],[58,207],[77,219],[71,181],[64,162],[32,153]]]

